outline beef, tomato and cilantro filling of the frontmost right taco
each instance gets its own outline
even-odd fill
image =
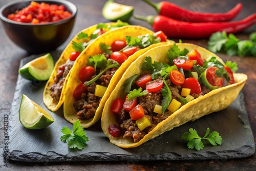
[[[168,63],[142,63],[142,74],[135,74],[123,84],[126,98],[116,98],[111,105],[117,124],[109,125],[113,137],[139,142],[154,127],[187,102],[234,83],[233,72],[216,57],[204,60],[194,49],[180,50],[174,44],[167,54]],[[233,67],[231,67],[234,69]]]

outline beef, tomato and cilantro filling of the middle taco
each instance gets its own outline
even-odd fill
[[[99,44],[102,54],[90,56],[87,66],[79,71],[80,84],[73,92],[80,120],[93,118],[111,78],[122,63],[140,49],[157,44],[161,40],[159,34],[146,34],[138,37],[126,36],[126,40],[115,40],[111,46]]]

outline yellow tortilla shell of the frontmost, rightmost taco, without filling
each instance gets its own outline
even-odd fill
[[[218,60],[220,60],[223,63],[222,59],[220,59],[214,53],[211,53],[199,46],[192,45],[192,44],[176,44],[176,45],[178,45],[178,47],[181,50],[183,50],[184,48],[188,49],[189,51],[193,49],[197,49],[204,59],[215,56]],[[146,53],[138,57],[137,60],[135,60],[132,63],[132,65],[129,68],[127,68],[126,72],[123,74],[122,78],[120,79],[118,84],[115,86],[115,89],[113,90],[109,99],[105,103],[104,110],[102,112],[102,117],[101,117],[102,130],[105,136],[110,139],[111,143],[123,148],[139,146],[142,143],[163,134],[165,131],[174,129],[174,127],[180,126],[188,121],[194,121],[204,115],[223,110],[228,105],[230,105],[233,102],[233,100],[237,98],[239,92],[241,91],[241,89],[245,84],[245,81],[247,80],[247,75],[245,74],[234,74],[234,80],[236,81],[236,83],[223,88],[213,90],[204,96],[200,96],[197,99],[186,103],[179,110],[177,110],[172,115],[170,115],[167,119],[158,123],[151,132],[146,134],[143,137],[143,139],[141,139],[137,143],[131,140],[124,139],[122,136],[112,137],[109,133],[108,127],[111,124],[119,125],[119,123],[115,118],[115,114],[110,111],[110,108],[113,101],[117,97],[121,97],[121,98],[125,97],[126,94],[122,90],[124,81],[135,74],[142,73],[141,65],[145,60],[146,56],[151,56],[152,62],[153,61],[161,61],[164,63],[167,62],[168,60],[166,58],[166,54],[172,46],[173,45],[159,46],[147,51]]]

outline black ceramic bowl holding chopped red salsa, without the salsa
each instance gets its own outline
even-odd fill
[[[17,46],[29,53],[38,54],[49,52],[61,46],[68,39],[75,23],[77,7],[65,0],[34,0],[34,2],[63,5],[72,15],[66,19],[46,24],[14,22],[8,19],[7,16],[16,10],[27,7],[31,3],[31,1],[15,1],[0,9],[0,19],[2,20],[6,34]]]

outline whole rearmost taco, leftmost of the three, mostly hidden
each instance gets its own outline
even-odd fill
[[[68,46],[57,60],[54,70],[46,83],[43,100],[47,108],[51,111],[57,111],[64,101],[65,89],[76,58],[87,48],[95,38],[101,34],[127,26],[127,23],[118,21],[117,23],[100,23],[80,31],[70,41]]]

